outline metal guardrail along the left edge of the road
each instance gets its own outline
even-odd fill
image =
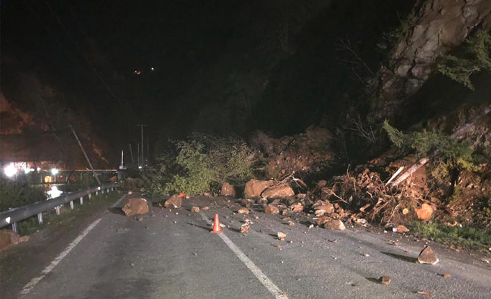
[[[16,207],[15,209],[8,210],[0,213],[0,228],[7,225],[12,225],[12,230],[17,232],[17,222],[22,221],[26,218],[38,214],[38,221],[42,223],[42,212],[47,210],[55,209],[56,214],[60,214],[60,207],[66,203],[70,203],[70,209],[74,209],[74,200],[80,200],[80,204],[83,205],[83,198],[88,196],[88,199],[95,194],[99,194],[99,191],[104,194],[104,191],[113,191],[115,187],[118,187],[118,183],[104,184],[99,187],[93,187],[90,189],[84,189],[80,191],[70,192],[58,196],[56,198],[51,198],[49,200],[40,201],[38,203],[33,203],[32,205],[25,205],[24,207]]]

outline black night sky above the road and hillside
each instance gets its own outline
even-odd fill
[[[377,38],[412,2],[3,0],[2,90],[22,102],[34,72],[114,150],[139,142],[137,123],[157,154],[196,130],[300,133],[362,89],[337,42],[378,69]]]

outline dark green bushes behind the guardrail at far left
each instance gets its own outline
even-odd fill
[[[42,189],[31,187],[23,180],[10,180],[0,177],[0,211],[31,205],[31,203],[41,200],[46,200],[45,192]]]

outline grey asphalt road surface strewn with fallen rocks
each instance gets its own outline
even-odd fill
[[[421,265],[414,259],[424,242],[364,228],[309,229],[300,216],[290,226],[279,215],[234,214],[236,201],[184,200],[181,209],[152,207],[143,221],[104,212],[84,237],[66,241],[78,240],[67,253],[60,248],[62,258],[43,261],[49,271],[29,277],[17,298],[491,298],[491,268],[472,257],[435,249],[440,262]],[[191,213],[192,205],[210,210]],[[209,232],[215,213],[230,226],[221,237]],[[247,235],[239,232],[245,219],[253,222]],[[399,246],[389,242],[395,238]],[[380,276],[391,284],[376,282]]]

